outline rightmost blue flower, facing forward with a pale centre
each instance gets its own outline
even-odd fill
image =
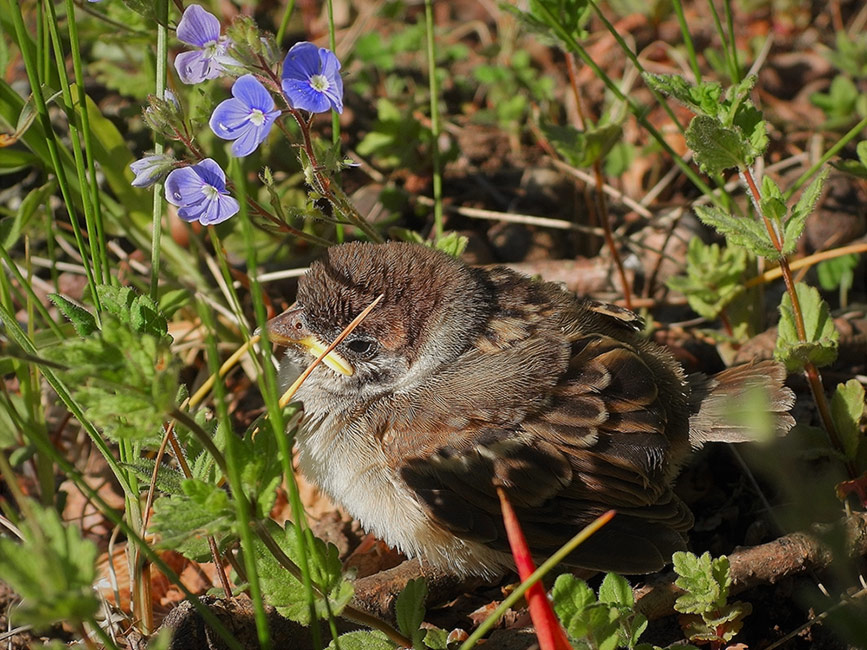
[[[343,112],[340,61],[331,50],[313,43],[296,43],[283,60],[283,93],[293,108],[324,113]]]

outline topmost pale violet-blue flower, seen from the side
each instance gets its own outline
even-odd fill
[[[237,62],[226,54],[232,42],[220,38],[220,21],[199,5],[190,5],[178,23],[178,38],[198,49],[175,57],[175,69],[185,84],[196,84],[219,77],[226,65]]]

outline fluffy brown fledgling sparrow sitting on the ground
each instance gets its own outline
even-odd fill
[[[773,360],[687,375],[624,308],[414,243],[327,249],[267,323],[284,388],[380,297],[301,384],[301,472],[368,532],[459,577],[513,565],[497,490],[547,557],[610,509],[565,563],[646,574],[686,549],[672,482],[706,442],[794,421]],[[753,407],[754,408],[754,407]]]

